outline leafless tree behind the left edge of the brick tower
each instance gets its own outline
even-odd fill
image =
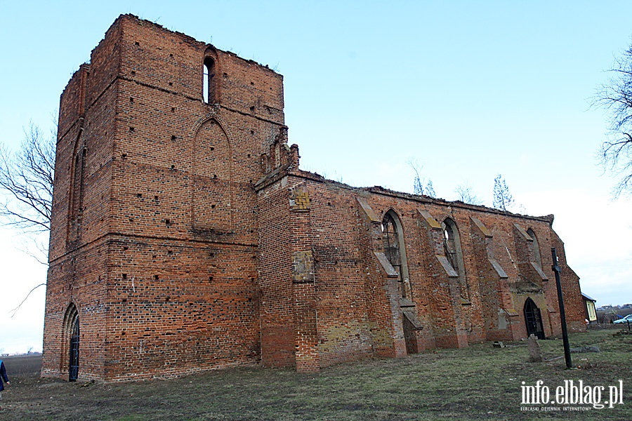
[[[51,229],[56,131],[47,137],[34,123],[25,129],[20,149],[0,146],[0,221],[38,234]]]

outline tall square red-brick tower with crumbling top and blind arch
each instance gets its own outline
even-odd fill
[[[108,29],[60,100],[43,375],[260,358],[253,185],[282,83],[133,15]]]

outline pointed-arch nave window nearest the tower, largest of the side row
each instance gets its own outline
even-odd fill
[[[408,281],[408,269],[406,267],[406,257],[404,253],[404,241],[402,225],[399,218],[389,210],[382,220],[382,239],[384,255],[399,275],[397,278],[400,290],[400,297],[410,298],[410,284]]]

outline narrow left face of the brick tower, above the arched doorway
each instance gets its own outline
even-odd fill
[[[112,27],[110,32],[115,37],[118,29]],[[95,52],[111,51],[112,44],[104,42]],[[100,95],[91,92],[89,74],[90,67],[82,65],[60,100],[43,375],[67,377],[71,306],[81,311],[84,377],[105,375],[108,246],[103,233],[110,223],[116,91],[109,86]]]

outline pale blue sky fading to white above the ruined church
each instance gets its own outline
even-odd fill
[[[72,73],[133,13],[283,74],[303,169],[411,192],[413,158],[437,196],[456,199],[467,182],[487,206],[500,173],[529,215],[555,214],[585,293],[632,302],[632,200],[611,200],[595,159],[605,116],[589,109],[632,41],[632,2],[22,1],[1,12],[8,147],[29,121],[49,126]],[[46,278],[20,241],[0,229],[6,310]],[[0,312],[0,349],[41,349],[40,289],[15,317]]]

